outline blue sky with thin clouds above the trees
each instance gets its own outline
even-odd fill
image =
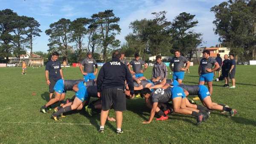
[[[152,19],[152,12],[167,11],[166,18],[172,21],[181,12],[195,14],[198,26],[195,32],[203,34],[202,46],[215,46],[218,36],[214,34],[214,14],[212,6],[224,0],[0,0],[0,9],[12,9],[19,15],[34,17],[41,24],[41,37],[34,41],[33,51],[47,52],[48,36],[45,30],[49,25],[61,18],[75,20],[78,17],[90,17],[92,14],[113,9],[116,17],[120,17],[121,34],[117,39],[125,42],[124,37],[131,30],[129,24],[143,18]],[[86,42],[84,42],[86,43]],[[86,44],[85,44],[86,46]]]

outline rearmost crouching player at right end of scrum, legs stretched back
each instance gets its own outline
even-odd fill
[[[208,91],[207,87],[204,85],[185,85],[180,84],[181,88],[185,89],[188,93],[186,95],[198,95],[201,102],[206,106],[208,109],[214,109],[214,110],[220,110],[220,111],[226,111],[230,113],[230,116],[234,116],[237,113],[236,109],[232,109],[229,107],[226,107],[224,104],[217,104],[212,102],[212,98],[210,95],[210,92]],[[186,92],[185,92],[186,93]],[[190,104],[189,101],[186,101],[186,105],[188,107],[192,107],[195,109],[198,109],[198,107],[202,107],[200,105]]]

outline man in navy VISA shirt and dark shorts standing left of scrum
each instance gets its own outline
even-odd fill
[[[58,61],[58,56],[59,56],[58,52],[53,52],[51,60],[47,62],[45,67],[45,79],[46,79],[46,83],[49,85],[50,99],[52,98],[52,95],[54,92],[53,87],[55,86],[56,82],[59,79],[64,79],[62,69],[61,69],[61,63],[60,61]]]

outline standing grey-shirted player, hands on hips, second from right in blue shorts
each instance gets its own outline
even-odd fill
[[[172,63],[174,66],[172,67]],[[184,64],[186,63],[186,67],[184,67]],[[190,62],[185,57],[180,55],[180,50],[175,50],[175,57],[172,58],[170,64],[169,64],[171,70],[173,71],[172,79],[177,80],[179,84],[182,83],[182,80],[184,79],[184,72],[186,72],[187,69],[189,69]]]

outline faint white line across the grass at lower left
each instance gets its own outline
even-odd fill
[[[92,124],[87,124],[87,123],[47,123],[47,122],[11,122],[11,121],[7,121],[7,122],[0,122],[0,123],[4,123],[4,124],[59,124],[59,125],[80,125],[80,126],[90,126]]]

